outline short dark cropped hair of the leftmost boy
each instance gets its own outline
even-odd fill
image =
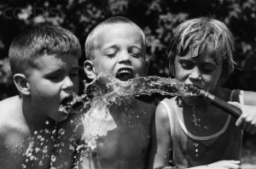
[[[81,55],[81,46],[71,31],[59,26],[41,25],[23,31],[9,48],[9,62],[13,75],[29,73],[34,61],[44,54]]]

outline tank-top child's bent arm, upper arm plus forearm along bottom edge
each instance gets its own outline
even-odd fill
[[[156,108],[151,132],[148,169],[171,169],[172,166],[169,166],[169,161],[172,160],[170,159],[172,152],[171,128],[166,108],[162,104],[159,104]],[[240,169],[240,165],[241,161],[218,161],[206,166],[191,167],[190,169]]]

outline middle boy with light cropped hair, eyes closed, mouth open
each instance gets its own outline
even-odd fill
[[[147,73],[143,31],[131,20],[113,17],[97,25],[85,42],[84,71],[90,80],[108,72],[119,80]],[[154,106],[134,99],[107,110],[72,115],[60,128],[56,168],[146,167]]]

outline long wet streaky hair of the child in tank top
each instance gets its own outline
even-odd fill
[[[186,20],[177,26],[173,32],[168,52],[169,66],[172,75],[174,60],[177,56],[183,57],[189,51],[198,49],[198,56],[209,52],[217,65],[222,65],[222,72],[218,79],[218,86],[223,85],[234,70],[233,54],[235,40],[223,22],[208,17]]]

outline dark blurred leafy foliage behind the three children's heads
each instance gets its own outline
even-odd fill
[[[183,20],[211,16],[223,21],[236,37],[237,63],[235,73],[225,86],[256,91],[254,0],[1,0],[0,100],[17,93],[9,70],[8,50],[20,31],[32,25],[61,25],[73,31],[84,47],[89,31],[115,15],[133,20],[143,29],[148,43],[149,76],[170,76],[166,50],[173,28]],[[81,79],[85,79],[83,62],[84,54],[79,60]],[[245,140],[245,148],[256,145],[255,137],[245,134]],[[248,153],[256,155],[253,151]],[[252,161],[256,161],[255,158]]]

